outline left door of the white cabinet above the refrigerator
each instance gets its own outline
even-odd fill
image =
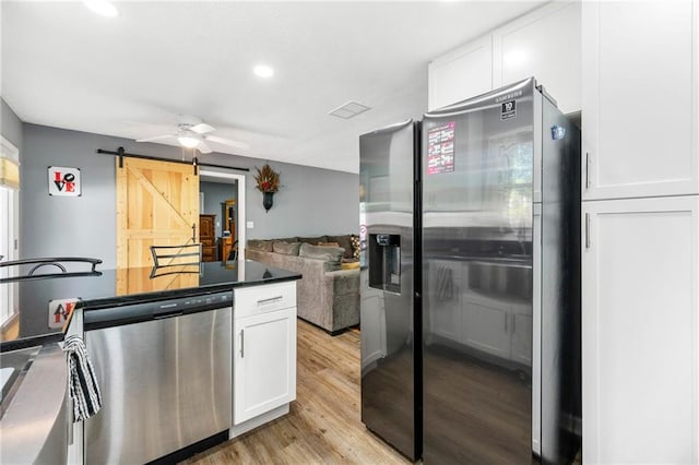
[[[493,90],[493,39],[473,40],[427,68],[427,108],[434,110]]]

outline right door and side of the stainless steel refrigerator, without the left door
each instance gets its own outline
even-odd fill
[[[580,444],[580,135],[535,80],[428,112],[426,464],[565,463]]]

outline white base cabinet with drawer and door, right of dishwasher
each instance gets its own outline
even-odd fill
[[[296,398],[296,283],[235,290],[233,422]]]

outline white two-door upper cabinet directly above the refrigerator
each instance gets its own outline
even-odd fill
[[[428,108],[535,76],[561,111],[578,111],[580,40],[580,3],[547,3],[434,60],[428,68]]]

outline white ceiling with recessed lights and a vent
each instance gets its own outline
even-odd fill
[[[427,110],[431,59],[542,3],[3,0],[0,91],[25,122],[141,139],[194,115],[250,144],[216,152],[358,172],[359,134]],[[328,115],[348,100],[371,109]]]

